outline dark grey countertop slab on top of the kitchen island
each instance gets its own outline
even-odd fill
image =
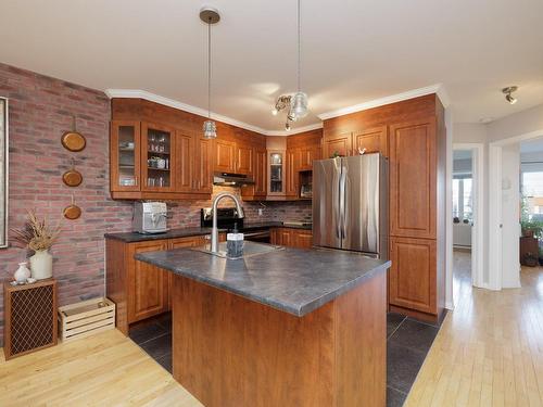
[[[324,249],[285,249],[236,260],[187,249],[135,257],[298,317],[386,271],[391,264]]]

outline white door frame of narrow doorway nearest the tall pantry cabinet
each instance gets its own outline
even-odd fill
[[[473,228],[471,230],[471,284],[485,288],[484,284],[484,143],[454,143],[454,150],[471,151]],[[453,175],[451,174],[451,177]],[[452,179],[452,178],[451,178]],[[449,220],[450,222],[453,219]],[[453,244],[453,242],[451,242]]]

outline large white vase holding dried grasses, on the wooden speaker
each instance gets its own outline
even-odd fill
[[[12,229],[15,241],[35,252],[30,256],[30,270],[34,279],[43,280],[52,277],[53,256],[49,253],[49,249],[56,241],[60,231],[60,225],[51,228],[46,218],[38,219],[35,211],[28,211],[28,217],[22,229]]]

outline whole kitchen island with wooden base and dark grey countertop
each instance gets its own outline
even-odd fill
[[[299,249],[136,258],[174,274],[173,374],[205,406],[384,406],[390,262]]]

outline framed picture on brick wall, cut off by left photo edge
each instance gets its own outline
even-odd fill
[[[0,98],[0,247],[8,247],[8,99]]]

